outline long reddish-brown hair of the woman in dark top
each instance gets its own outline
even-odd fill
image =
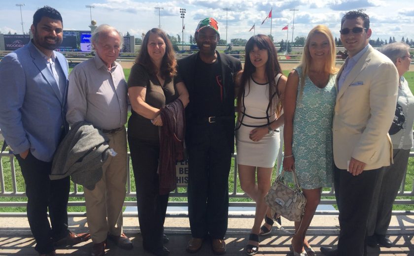
[[[151,57],[148,54],[148,40],[150,33],[158,35],[159,37],[163,38],[165,42],[165,55],[163,57],[160,70],[157,70],[157,67],[154,63],[152,63]],[[135,63],[144,66],[150,74],[156,75],[159,71],[161,78],[172,79],[173,76],[177,73],[177,62],[175,61],[173,45],[171,44],[170,39],[168,39],[167,34],[157,28],[149,30],[145,34],[144,40],[142,41],[141,50],[139,51],[137,59],[135,59]]]

